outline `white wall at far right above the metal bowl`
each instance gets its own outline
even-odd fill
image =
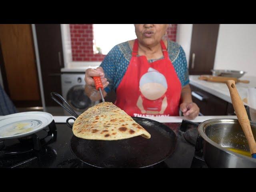
[[[256,76],[256,24],[220,24],[214,69]]]

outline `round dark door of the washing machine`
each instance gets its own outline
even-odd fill
[[[76,85],[67,93],[68,104],[78,112],[84,112],[93,105],[92,101],[84,92],[84,85]]]

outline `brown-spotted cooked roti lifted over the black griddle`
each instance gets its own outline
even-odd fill
[[[131,116],[111,102],[99,103],[83,112],[75,120],[72,130],[75,136],[92,140],[151,137]]]

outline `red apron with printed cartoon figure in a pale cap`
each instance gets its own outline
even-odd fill
[[[130,116],[179,115],[182,86],[162,40],[161,46],[164,58],[149,63],[146,56],[137,56],[138,40],[134,41],[132,58],[122,81],[116,89],[115,102],[116,106]],[[152,71],[154,71],[154,75],[152,75]],[[152,87],[150,83],[154,83]],[[145,84],[150,87],[150,90],[144,89],[143,94],[140,88]],[[161,88],[161,92],[158,92],[160,90],[158,86]],[[163,93],[165,88],[166,92]],[[152,94],[155,94],[158,98],[152,100],[149,96]],[[163,103],[166,101],[164,98],[167,98],[165,103]],[[163,111],[160,113],[161,109]]]

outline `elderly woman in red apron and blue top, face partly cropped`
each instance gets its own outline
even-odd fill
[[[137,39],[118,44],[100,67],[87,69],[85,92],[100,100],[92,77],[100,76],[103,96],[116,91],[115,105],[130,116],[198,116],[192,102],[186,56],[176,42],[164,40],[168,24],[135,24]]]

